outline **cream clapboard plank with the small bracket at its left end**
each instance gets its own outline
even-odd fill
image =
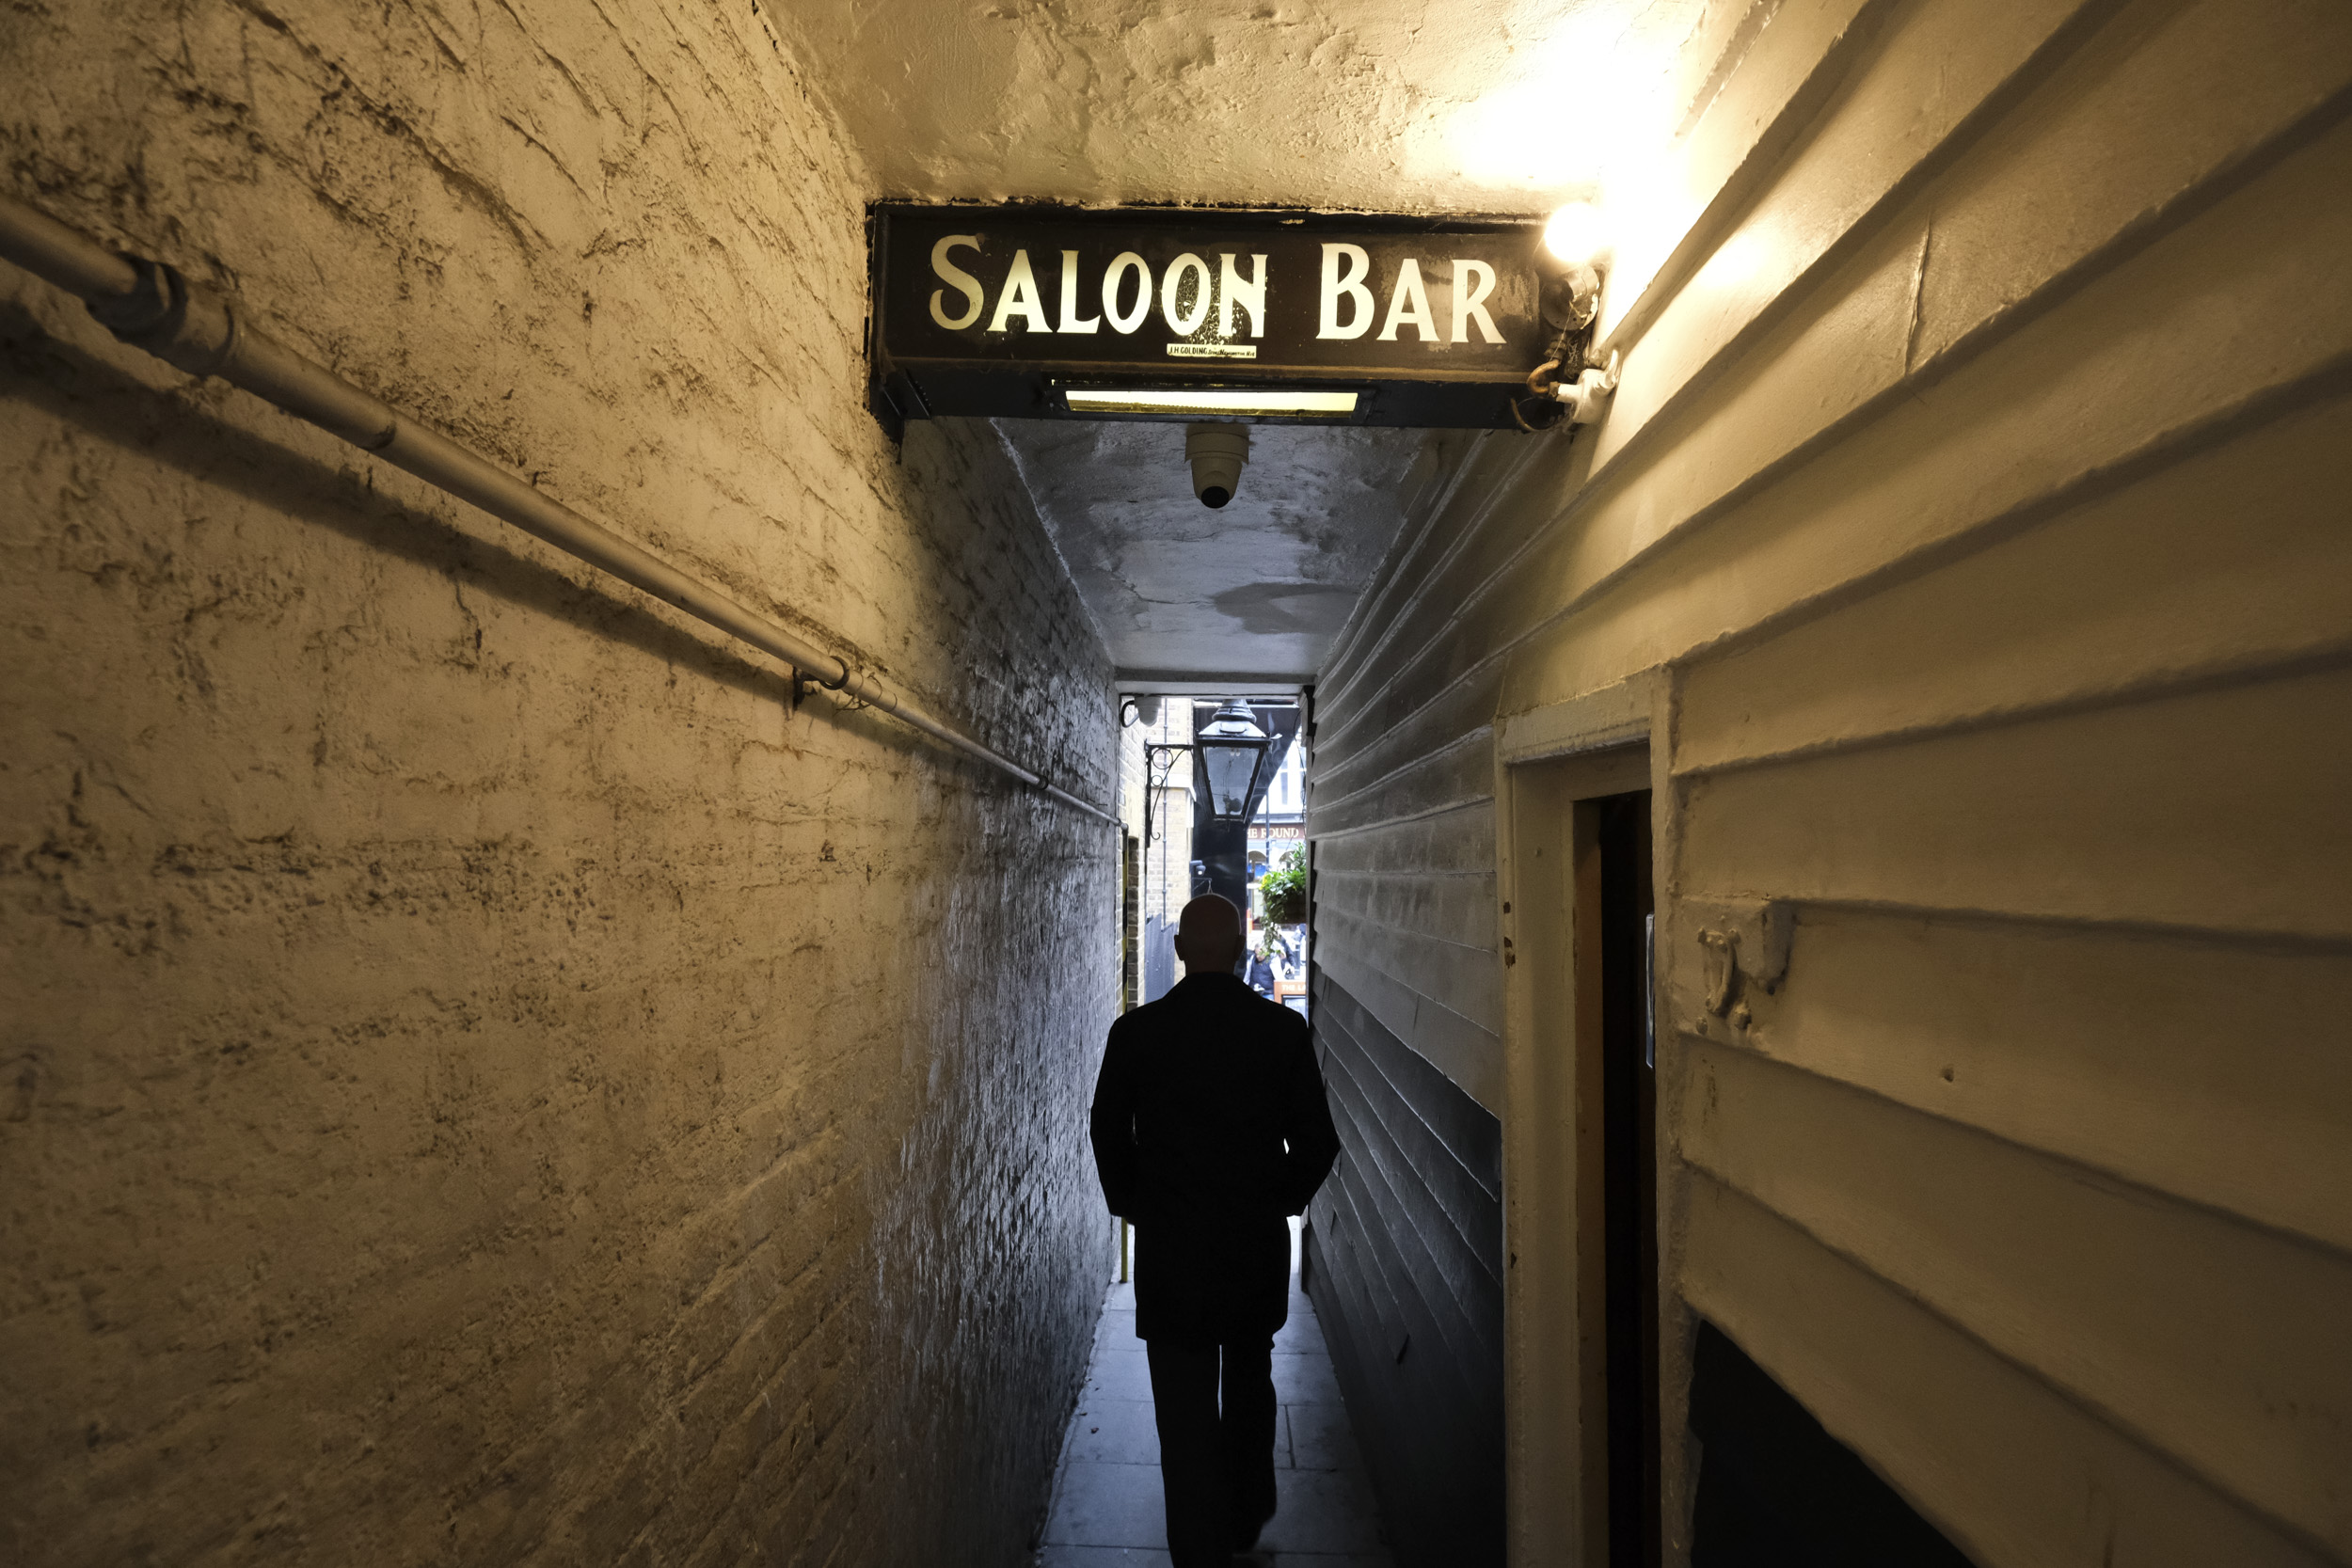
[[[2352,952],[1825,905],[1795,945],[1748,1048],[2352,1253]]]

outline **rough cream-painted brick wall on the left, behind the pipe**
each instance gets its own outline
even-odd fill
[[[755,7],[19,7],[0,160],[1110,797]],[[14,273],[0,550],[0,1559],[1018,1561],[1110,830]]]

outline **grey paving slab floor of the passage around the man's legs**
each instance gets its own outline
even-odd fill
[[[1296,1227],[1296,1222],[1294,1222]],[[1265,1568],[1388,1568],[1388,1542],[1364,1460],[1331,1375],[1315,1302],[1298,1288],[1291,1248],[1291,1321],[1275,1335],[1275,1483],[1282,1509],[1258,1549],[1235,1561]],[[1152,1382],[1136,1338],[1136,1288],[1110,1286],[1094,1331],[1094,1366],[1054,1472],[1054,1507],[1037,1568],[1167,1568],[1160,1439]]]

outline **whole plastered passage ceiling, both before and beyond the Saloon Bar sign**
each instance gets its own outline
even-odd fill
[[[1778,0],[800,0],[877,200],[1543,214],[1663,150]],[[1700,47],[1703,45],[1703,47]],[[1310,679],[1461,433],[1258,425],[1235,501],[1183,428],[995,421],[1127,689]],[[1482,440],[1536,440],[1489,435]]]

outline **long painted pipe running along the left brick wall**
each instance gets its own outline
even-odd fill
[[[87,235],[66,228],[38,207],[0,195],[0,256],[45,282],[78,294],[89,313],[125,343],[148,350],[191,376],[219,376],[230,386],[303,418],[327,435],[372,451],[405,468],[426,484],[459,501],[470,501],[492,517],[548,541],[557,550],[609,571],[656,599],[666,599],[696,621],[720,628],[762,654],[781,658],[833,691],[880,708],[948,745],[997,766],[1025,785],[1035,785],[1089,816],[1117,823],[1068,790],[1056,790],[1009,757],[971,736],[948,729],[906,696],[891,691],[877,675],[856,670],[847,658],[828,654],[800,632],[729,599],[701,578],[687,576],[661,557],[642,550],[600,522],[574,512],[506,468],[405,418],[390,404],[362,393],[325,364],[306,360],[285,343],[254,329],[233,301],[181,277],[158,261],[118,256]]]

